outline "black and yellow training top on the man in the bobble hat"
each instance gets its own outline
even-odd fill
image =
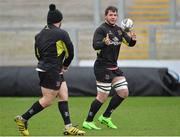
[[[45,26],[35,36],[35,55],[41,70],[68,67],[74,57],[74,48],[69,34],[54,25]]]

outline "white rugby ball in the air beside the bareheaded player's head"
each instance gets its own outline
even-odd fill
[[[126,32],[131,31],[133,29],[133,26],[134,23],[130,18],[125,18],[121,21],[121,28]]]

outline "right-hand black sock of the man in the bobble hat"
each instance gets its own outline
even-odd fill
[[[64,120],[64,124],[65,125],[71,124],[68,102],[67,101],[58,102],[58,108]]]

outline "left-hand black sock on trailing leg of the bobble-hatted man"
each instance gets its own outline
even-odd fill
[[[42,111],[44,108],[41,106],[41,104],[39,103],[39,101],[35,102],[31,108],[26,111],[22,117],[25,119],[25,120],[29,120],[33,115],[39,113],[40,111]]]

